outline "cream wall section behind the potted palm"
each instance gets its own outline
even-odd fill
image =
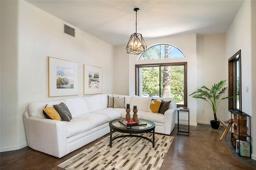
[[[226,79],[225,41],[224,34],[197,37],[197,88],[202,85],[211,88],[214,83]],[[228,96],[228,91],[225,95]],[[230,119],[227,99],[218,105],[216,116],[221,120]],[[211,120],[214,120],[212,107],[206,101],[197,99],[197,122],[210,124]]]

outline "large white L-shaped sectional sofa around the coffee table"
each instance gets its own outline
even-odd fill
[[[131,117],[134,105],[138,109],[138,118],[153,121],[155,132],[170,134],[175,125],[176,101],[173,98],[138,97],[124,95],[100,94],[90,97],[73,97],[58,101],[32,102],[23,113],[24,126],[28,146],[34,150],[61,158],[66,154],[108,134],[109,121],[125,118],[126,109],[108,106],[108,95],[125,97],[125,103],[130,104]],[[171,101],[164,114],[148,111],[151,99]],[[42,110],[46,105],[58,105],[61,102],[68,107],[72,119],[56,121],[46,119]]]

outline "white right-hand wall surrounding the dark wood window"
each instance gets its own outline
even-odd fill
[[[256,17],[255,12],[252,13],[251,3],[254,4],[255,10],[255,2],[244,1],[226,34],[226,70],[228,70],[227,60],[239,49],[241,49],[242,111],[252,117],[252,158],[256,160],[256,112],[255,110],[252,110],[252,107],[254,107],[255,109],[255,106],[252,106],[252,96],[256,95],[255,72],[254,75],[252,74],[252,70],[255,70],[255,62],[252,62],[252,58],[255,58],[255,54],[254,57],[252,57],[252,48],[255,48],[255,42],[252,43],[252,40],[255,41],[255,39],[252,39],[252,32],[255,36],[256,30],[252,30],[252,23],[254,24],[255,28],[255,21],[253,20],[255,20]],[[226,75],[226,77],[228,79],[228,75]],[[248,86],[249,92],[246,92],[246,86]],[[254,90],[252,90],[252,87],[254,88]]]

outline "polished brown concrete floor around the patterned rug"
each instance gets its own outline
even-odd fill
[[[256,161],[236,154],[230,144],[230,134],[222,141],[224,128],[210,125],[190,126],[190,136],[177,135],[177,126],[170,149],[160,170],[256,170]],[[108,137],[108,135],[103,136]],[[29,147],[0,154],[1,170],[61,170],[57,165],[89,148],[102,138],[62,157],[56,158]]]

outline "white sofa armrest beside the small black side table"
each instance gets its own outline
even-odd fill
[[[164,134],[171,134],[175,127],[177,107],[171,107],[164,113]]]

